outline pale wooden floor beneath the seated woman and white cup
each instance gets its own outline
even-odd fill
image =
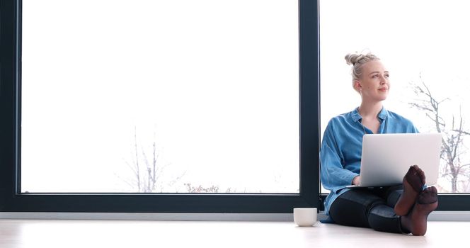
[[[424,237],[293,222],[0,220],[0,247],[467,247],[470,222],[429,222]]]

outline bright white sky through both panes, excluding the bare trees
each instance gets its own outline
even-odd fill
[[[384,105],[420,130],[420,74],[468,112],[469,4],[442,3],[320,2],[321,133],[360,103],[355,51],[382,58]],[[23,191],[134,191],[134,126],[149,157],[156,137],[162,191],[297,191],[297,25],[293,0],[23,0]]]

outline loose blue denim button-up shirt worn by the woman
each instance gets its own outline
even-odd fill
[[[418,133],[411,120],[382,108],[379,115],[378,133]],[[352,179],[360,174],[362,136],[364,132],[362,117],[357,111],[344,113],[332,118],[326,126],[320,148],[321,184],[330,191],[325,199],[325,213],[329,215],[331,203],[350,188]]]

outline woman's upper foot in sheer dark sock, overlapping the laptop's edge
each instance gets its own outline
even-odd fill
[[[424,171],[418,165],[413,165],[408,169],[406,175],[403,176],[403,193],[394,208],[397,215],[404,216],[410,212],[418,194],[422,191],[425,181]]]

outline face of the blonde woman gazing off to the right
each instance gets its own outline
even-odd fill
[[[380,60],[372,60],[362,65],[362,75],[355,81],[362,100],[384,101],[389,94],[389,71]]]

